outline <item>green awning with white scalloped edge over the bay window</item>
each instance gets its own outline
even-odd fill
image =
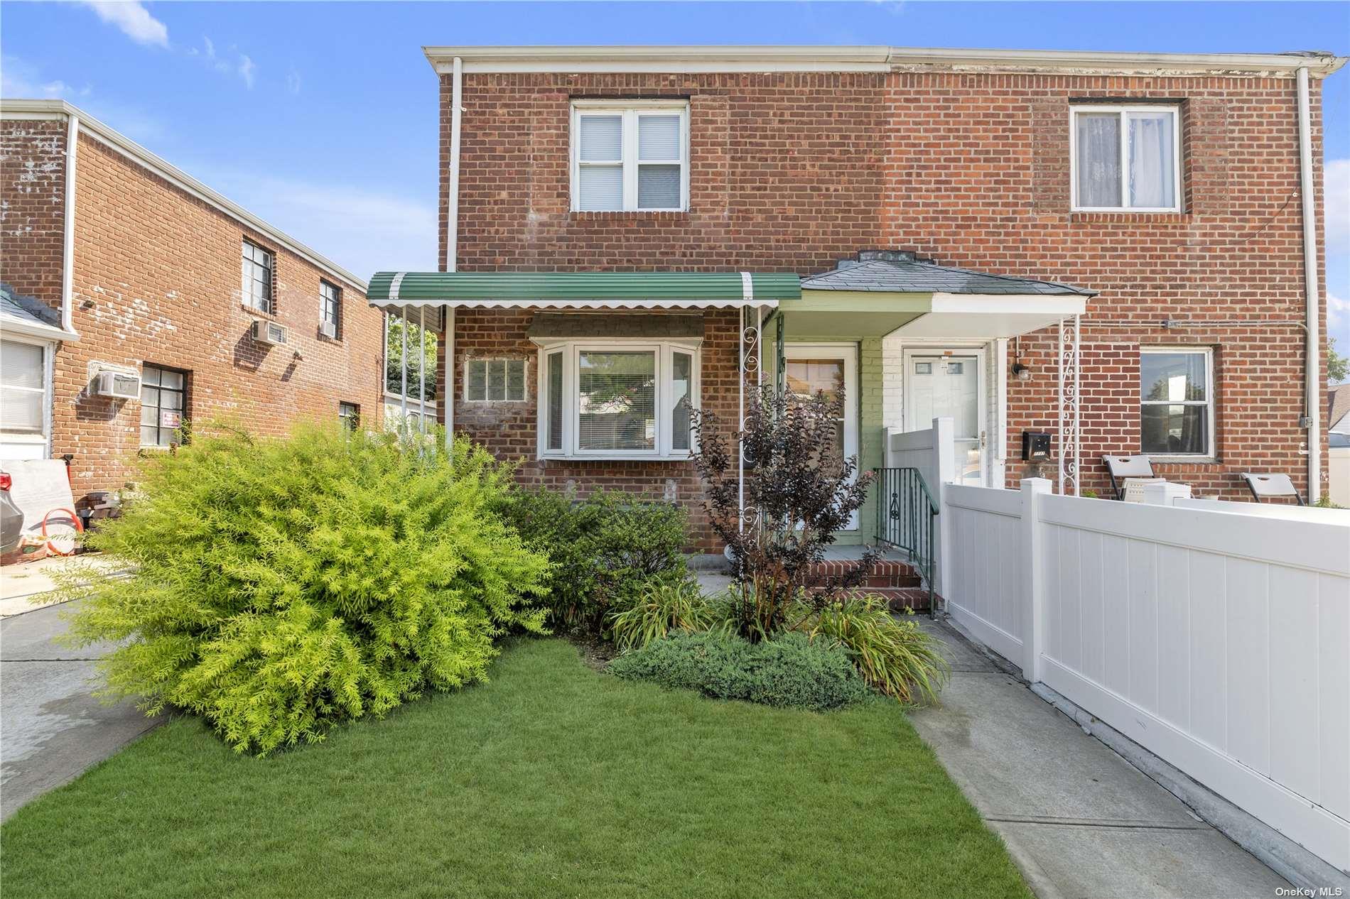
[[[374,306],[774,306],[798,300],[791,273],[759,271],[379,271]]]

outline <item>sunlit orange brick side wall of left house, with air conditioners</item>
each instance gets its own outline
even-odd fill
[[[382,410],[381,313],[351,285],[81,135],[76,165],[74,328],[55,359],[53,452],[74,454],[76,495],[116,489],[140,447],[140,404],[89,396],[94,362],[185,369],[198,423],[231,420],[256,433],[332,421],[338,402]],[[248,337],[240,302],[240,240],[275,254],[274,319],[290,344]],[[319,279],[343,288],[342,340],[319,336]]]

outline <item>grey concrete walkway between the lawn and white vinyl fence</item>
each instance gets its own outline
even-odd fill
[[[910,718],[1040,899],[1239,899],[1288,888],[949,626],[921,621],[946,644],[953,671],[942,706]]]

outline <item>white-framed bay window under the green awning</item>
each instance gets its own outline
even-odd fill
[[[539,452],[682,459],[698,404],[694,343],[567,342],[540,350]]]

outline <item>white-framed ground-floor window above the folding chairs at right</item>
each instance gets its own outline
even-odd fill
[[[1139,352],[1139,451],[1215,455],[1214,355],[1208,348]]]

